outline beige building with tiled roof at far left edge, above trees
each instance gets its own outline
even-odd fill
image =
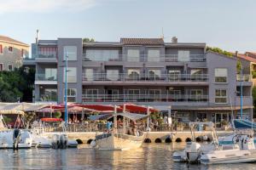
[[[13,71],[28,57],[29,45],[10,37],[0,36],[0,71]]]

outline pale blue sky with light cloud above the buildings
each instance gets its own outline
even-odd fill
[[[21,42],[58,37],[161,37],[256,51],[255,0],[0,0],[0,35]]]

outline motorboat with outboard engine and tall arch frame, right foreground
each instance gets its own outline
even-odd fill
[[[211,129],[212,143],[199,144],[195,141],[195,127],[207,126]],[[217,134],[212,122],[190,122],[189,128],[192,136],[192,142],[188,142],[184,150],[175,151],[172,160],[176,162],[188,161],[189,163],[197,162],[202,154],[218,148]]]

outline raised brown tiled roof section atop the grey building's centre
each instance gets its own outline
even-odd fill
[[[164,45],[162,38],[121,38],[120,42],[124,45]]]

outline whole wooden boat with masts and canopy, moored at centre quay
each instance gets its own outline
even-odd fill
[[[97,135],[93,146],[96,146],[99,150],[131,150],[141,147],[144,139],[143,132],[136,131],[136,128],[133,128],[133,133],[131,134],[132,130],[129,129],[128,122],[130,120],[136,122],[147,118],[148,115],[149,109],[147,115],[125,113],[125,106],[123,113],[116,113],[115,109],[113,114],[113,131]],[[123,117],[122,129],[117,127],[117,116]]]

